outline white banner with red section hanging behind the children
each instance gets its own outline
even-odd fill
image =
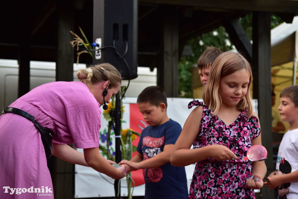
[[[172,120],[178,122],[183,127],[185,120],[190,112],[187,105],[193,99],[190,98],[167,98],[167,115]],[[199,101],[202,101],[199,99]],[[136,104],[136,97],[127,97],[123,99],[124,114],[122,119],[122,129],[132,128],[134,131],[141,133],[142,129],[147,126],[142,114]],[[253,100],[254,111],[257,113],[257,100]],[[107,143],[107,126],[108,122],[103,117],[103,110],[101,115],[100,128],[100,144],[106,146]],[[115,138],[109,142],[111,153],[115,151]],[[137,146],[138,139],[134,140],[133,145]],[[77,149],[83,153],[83,149]],[[187,186],[190,187],[190,182],[193,177],[195,164],[185,167]],[[143,196],[145,194],[145,181],[142,170],[134,171],[132,177],[136,183],[134,187],[133,196]],[[93,197],[111,197],[115,196],[114,179],[105,174],[99,173],[90,167],[75,165],[75,198],[93,198]],[[126,179],[121,180],[121,196],[127,196]]]

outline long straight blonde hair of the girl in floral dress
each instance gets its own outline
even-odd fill
[[[252,116],[252,98],[250,97],[250,85],[252,82],[252,69],[247,60],[239,53],[224,52],[212,63],[207,85],[203,89],[203,100],[213,115],[217,114],[222,101],[219,94],[219,82],[222,77],[234,72],[246,71],[249,74],[249,84],[245,97],[237,104],[239,111],[247,110],[246,116]]]

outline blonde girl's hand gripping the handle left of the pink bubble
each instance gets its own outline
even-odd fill
[[[217,161],[231,160],[232,158],[238,160],[238,157],[228,147],[224,145],[210,145],[211,158]]]

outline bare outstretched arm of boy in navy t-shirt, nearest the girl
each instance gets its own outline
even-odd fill
[[[164,150],[161,153],[159,153],[156,156],[151,157],[147,160],[136,162],[137,160],[139,160],[139,158],[137,158],[136,157],[137,155],[135,155],[131,159],[131,161],[122,160],[119,163],[119,165],[126,164],[131,168],[132,171],[138,170],[138,169],[149,169],[149,168],[155,168],[155,167],[162,166],[162,165],[170,162],[170,156],[171,156],[173,146],[174,146],[173,144],[165,145]],[[138,154],[140,154],[140,153],[138,152]]]

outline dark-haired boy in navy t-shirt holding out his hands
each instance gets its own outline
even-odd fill
[[[137,154],[122,160],[130,171],[143,169],[144,199],[186,199],[187,180],[184,167],[172,166],[171,151],[181,133],[181,126],[167,117],[167,96],[162,88],[150,86],[139,94],[137,103],[148,127],[144,128]]]

